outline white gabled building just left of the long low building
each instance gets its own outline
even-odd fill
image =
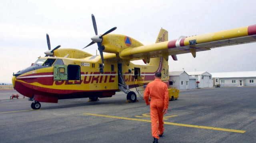
[[[212,87],[212,74],[206,71],[187,72],[189,76],[198,78],[198,88]]]

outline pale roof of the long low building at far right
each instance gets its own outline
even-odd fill
[[[211,74],[213,78],[256,77],[256,71],[212,72]]]

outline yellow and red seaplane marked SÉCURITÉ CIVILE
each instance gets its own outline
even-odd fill
[[[39,57],[31,67],[13,74],[14,88],[33,101],[33,109],[40,109],[40,102],[57,103],[59,99],[90,98],[96,101],[112,97],[120,90],[127,94],[127,100],[136,102],[136,93],[129,89],[148,84],[154,80],[155,72],[162,72],[162,81],[169,85],[169,56],[173,60],[177,60],[176,55],[184,53],[192,53],[196,57],[198,51],[256,41],[256,25],[250,25],[191,37],[181,36],[171,41],[168,41],[168,32],[160,29],[156,43],[143,45],[132,37],[110,34],[116,27],[98,35],[94,15],[92,23],[96,35],[86,47],[97,43],[100,55],[62,49],[60,45],[51,50],[49,35],[46,34],[46,57]],[[130,62],[139,59],[146,65]]]

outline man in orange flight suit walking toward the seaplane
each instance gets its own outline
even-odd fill
[[[152,136],[154,137],[153,143],[158,143],[159,137],[162,137],[164,133],[163,117],[164,114],[167,113],[169,104],[168,87],[167,84],[162,82],[161,77],[161,72],[156,72],[155,80],[148,83],[144,91],[144,100],[146,105],[150,105],[151,129]]]

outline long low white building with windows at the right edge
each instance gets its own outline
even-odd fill
[[[213,72],[214,86],[256,86],[256,71]]]

